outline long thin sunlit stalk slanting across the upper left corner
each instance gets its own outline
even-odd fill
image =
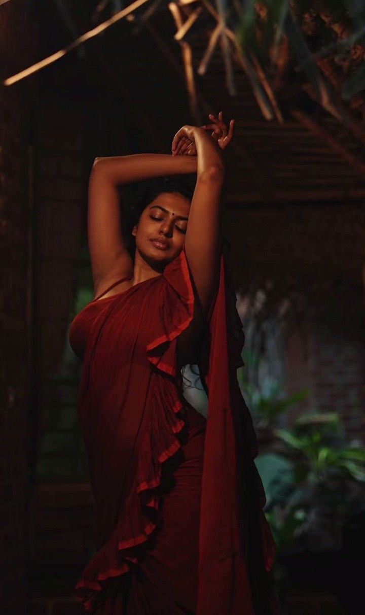
[[[12,77],[8,77],[7,79],[5,79],[3,84],[12,85],[14,83],[17,83],[17,81],[21,81],[21,79],[25,79],[25,77],[28,77],[31,74],[37,73],[37,71],[41,70],[45,66],[48,66],[49,64],[52,64],[53,62],[56,62],[56,60],[59,60],[64,55],[68,54],[70,51],[72,51],[73,49],[81,45],[83,42],[88,41],[89,39],[94,38],[95,36],[98,36],[98,34],[100,34],[101,32],[104,32],[104,30],[109,28],[109,26],[111,26],[113,23],[116,23],[120,19],[127,17],[127,15],[130,15],[134,10],[138,9],[138,7],[142,6],[143,4],[146,4],[146,2],[148,1],[149,0],[136,0],[135,2],[130,4],[130,6],[127,6],[123,10],[120,10],[118,13],[116,13],[115,15],[112,15],[112,17],[107,19],[105,22],[96,26],[96,28],[93,28],[93,30],[89,30],[88,32],[85,32],[85,34],[82,34],[81,36],[79,36],[79,38],[71,42],[67,47],[65,47],[65,49],[61,49],[60,51],[57,51],[55,54],[49,55],[49,57],[44,58],[44,60],[41,60],[40,62],[33,64],[33,66],[29,66],[29,68],[26,68],[20,73],[17,73],[13,75]]]

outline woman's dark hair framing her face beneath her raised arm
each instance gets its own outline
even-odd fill
[[[189,175],[168,175],[167,177],[156,177],[152,180],[139,182],[137,194],[133,198],[134,203],[128,207],[127,216],[124,216],[124,219],[128,218],[128,220],[124,220],[125,244],[133,258],[135,255],[135,238],[131,236],[131,231],[133,226],[138,224],[146,207],[163,192],[176,192],[191,201],[196,181],[196,173],[189,173]]]

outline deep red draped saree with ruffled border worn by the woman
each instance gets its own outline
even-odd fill
[[[176,357],[193,310],[183,250],[161,276],[92,301],[71,323],[98,525],[99,550],[76,585],[90,613],[279,613],[224,256],[199,360],[207,421],[183,397]]]

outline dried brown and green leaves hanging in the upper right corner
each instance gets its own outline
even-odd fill
[[[274,90],[307,81],[324,109],[348,121],[341,99],[365,90],[364,2],[246,0],[233,22],[243,54],[259,58]]]

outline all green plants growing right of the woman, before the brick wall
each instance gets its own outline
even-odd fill
[[[246,368],[259,367],[246,351]],[[265,515],[278,549],[338,547],[344,520],[365,509],[365,448],[346,440],[340,416],[306,411],[290,428],[278,427],[308,391],[285,395],[272,381],[266,391],[240,374],[256,428],[271,434],[270,451],[255,459],[266,494]]]

